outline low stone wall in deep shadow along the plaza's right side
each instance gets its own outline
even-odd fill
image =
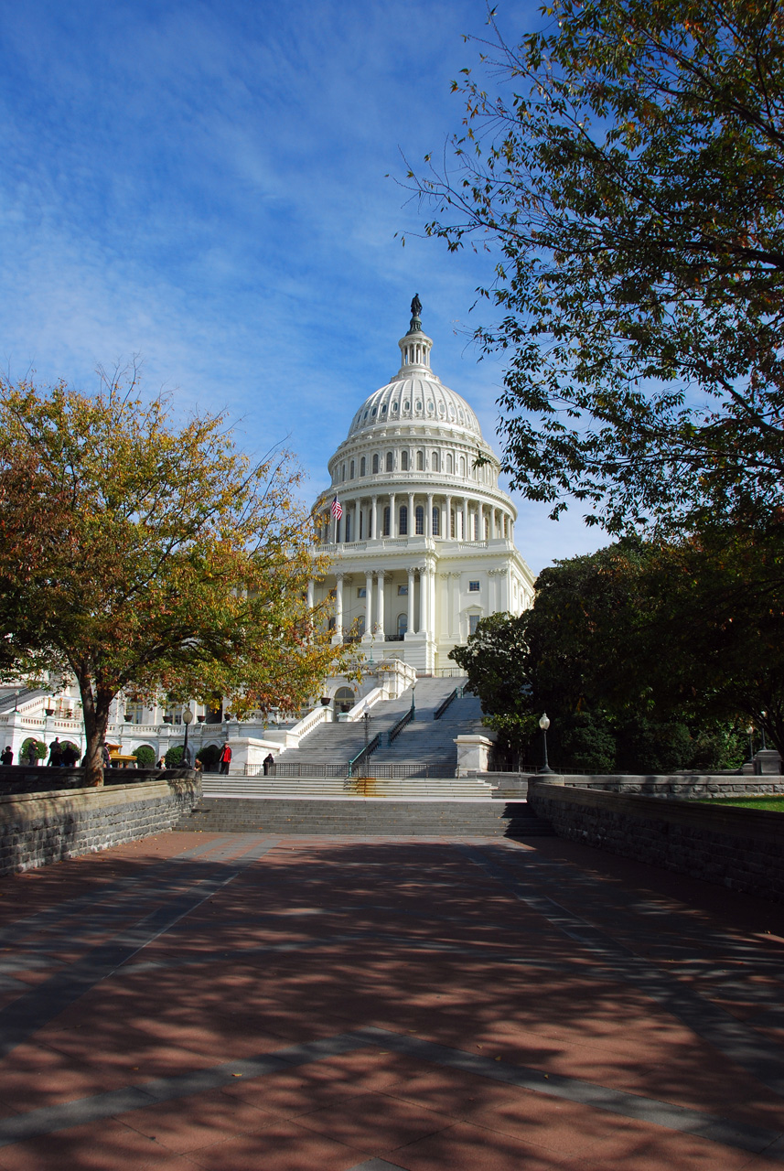
[[[558,837],[784,902],[784,814],[534,781]]]

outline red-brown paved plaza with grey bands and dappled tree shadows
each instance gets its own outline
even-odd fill
[[[0,1171],[784,1171],[784,909],[555,838],[0,881]]]

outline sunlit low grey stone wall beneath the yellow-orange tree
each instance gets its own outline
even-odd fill
[[[0,875],[173,829],[200,796],[201,780],[195,774],[97,789],[2,795]]]

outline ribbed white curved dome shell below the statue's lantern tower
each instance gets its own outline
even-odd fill
[[[349,427],[349,438],[376,426],[396,423],[442,424],[482,438],[479,419],[465,398],[445,386],[431,370],[400,372],[365,399]]]

